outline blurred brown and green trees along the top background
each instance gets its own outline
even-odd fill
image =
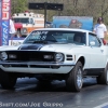
[[[11,0],[11,2],[12,14],[25,11],[44,14],[43,10],[29,10],[29,2],[62,3],[63,11],[48,10],[48,21],[52,21],[53,16],[92,16],[96,23],[97,17],[102,16],[108,25],[108,0]]]

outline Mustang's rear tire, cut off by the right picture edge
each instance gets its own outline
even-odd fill
[[[108,64],[100,76],[96,78],[98,84],[108,85]]]

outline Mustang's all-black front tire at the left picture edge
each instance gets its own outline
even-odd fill
[[[0,69],[0,83],[3,89],[13,89],[17,78],[14,73],[5,72]]]

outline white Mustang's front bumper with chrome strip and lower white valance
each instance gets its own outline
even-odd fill
[[[68,73],[75,63],[46,63],[46,62],[0,62],[0,68],[9,72],[26,73]]]

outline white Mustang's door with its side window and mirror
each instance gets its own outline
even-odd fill
[[[90,48],[90,68],[104,67],[104,49],[102,48],[100,40],[94,33],[89,33],[89,48]]]

